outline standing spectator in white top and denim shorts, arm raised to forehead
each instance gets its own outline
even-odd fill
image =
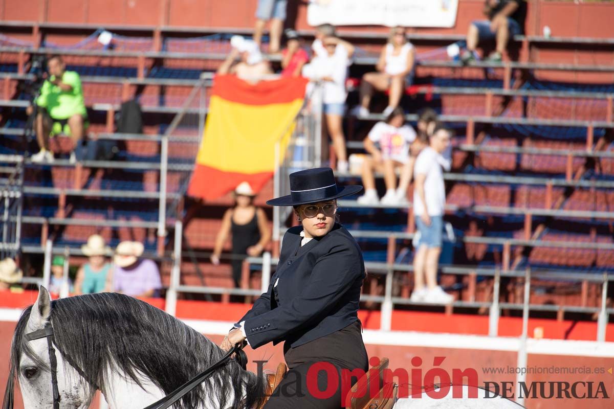
[[[314,81],[322,81],[324,85],[323,109],[328,134],[333,140],[333,147],[337,155],[337,170],[347,172],[349,166],[343,135],[343,115],[345,100],[348,97],[345,82],[348,78],[348,65],[354,55],[354,46],[332,36],[324,37],[322,46],[326,53],[316,52],[316,58],[303,67],[303,76]],[[317,46],[314,47],[314,50],[316,48]]]

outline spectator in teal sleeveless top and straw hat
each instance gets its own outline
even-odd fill
[[[88,262],[79,268],[75,278],[75,294],[93,294],[109,290],[106,288],[107,276],[111,271],[111,263],[107,256],[111,248],[106,245],[101,235],[93,234],[87,239],[87,244],[81,246],[81,251]]]

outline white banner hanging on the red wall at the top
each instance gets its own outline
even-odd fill
[[[458,0],[312,0],[311,26],[454,27]]]

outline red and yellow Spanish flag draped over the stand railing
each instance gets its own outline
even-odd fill
[[[278,165],[277,142],[283,160],[307,82],[295,77],[252,85],[216,75],[188,195],[216,199],[241,182],[260,191]]]

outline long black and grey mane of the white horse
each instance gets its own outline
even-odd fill
[[[139,385],[139,375],[145,375],[168,394],[224,354],[208,338],[173,316],[123,294],[69,297],[52,301],[51,306],[50,321],[58,350],[68,357],[64,362],[70,361],[90,383],[103,390],[111,368]],[[9,378],[17,377],[22,353],[38,361],[23,338],[31,308],[24,310],[15,329]],[[174,407],[195,409],[206,397],[217,396],[222,408],[250,408],[263,399],[264,385],[262,378],[244,371],[231,359]],[[7,394],[3,407],[7,405]],[[233,394],[235,399],[230,402]],[[246,400],[242,401],[244,394]]]

